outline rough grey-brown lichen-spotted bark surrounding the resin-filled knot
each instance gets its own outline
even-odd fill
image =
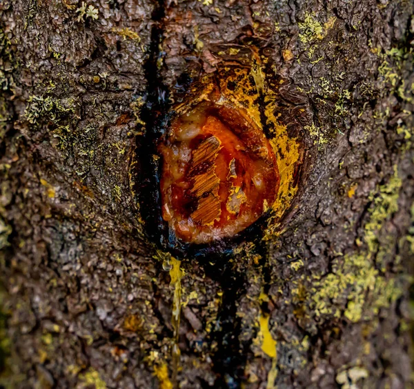
[[[306,106],[313,159],[282,231],[182,261],[177,383],[411,387],[412,1],[3,0],[0,17],[3,386],[174,384],[173,290],[130,161],[155,92],[252,37],[297,91],[281,109]]]

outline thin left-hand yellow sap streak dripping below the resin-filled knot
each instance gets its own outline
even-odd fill
[[[177,382],[177,372],[179,367],[180,351],[178,347],[179,341],[179,319],[181,312],[181,279],[184,271],[181,270],[181,261],[171,257],[170,259],[170,286],[174,288],[174,298],[172,299],[172,318],[171,323],[174,328],[174,345],[172,346],[172,381]]]

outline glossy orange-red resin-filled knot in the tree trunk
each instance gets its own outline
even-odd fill
[[[204,101],[172,120],[159,152],[162,217],[181,241],[233,237],[275,201],[273,148],[248,114],[226,101]]]

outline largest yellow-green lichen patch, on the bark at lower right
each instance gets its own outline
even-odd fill
[[[401,186],[395,168],[388,183],[371,194],[369,220],[364,227],[366,250],[337,257],[332,272],[313,284],[311,306],[316,316],[339,318],[343,314],[353,322],[369,319],[402,294],[398,279],[386,276],[376,266],[377,259],[388,248],[380,245],[377,236],[386,220],[398,210]]]

